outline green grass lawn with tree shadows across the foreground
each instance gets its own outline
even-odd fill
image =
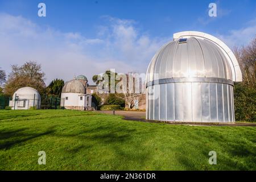
[[[38,152],[46,151],[46,165]],[[217,165],[208,163],[217,152]],[[256,170],[256,127],[125,121],[75,110],[0,110],[1,170]]]

